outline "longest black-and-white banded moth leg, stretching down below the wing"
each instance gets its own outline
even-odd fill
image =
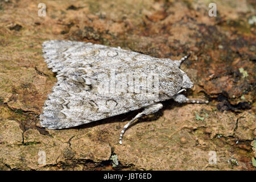
[[[131,119],[131,121],[129,121],[129,123],[127,123],[123,127],[123,130],[121,131],[121,134],[120,134],[119,143],[122,144],[123,134],[125,133],[127,127],[129,127],[131,125],[131,123],[133,123],[136,119],[138,119],[144,115],[156,113],[159,109],[162,109],[162,107],[163,107],[163,105],[160,103],[152,104],[150,106],[145,107],[141,113],[138,113],[133,119]]]

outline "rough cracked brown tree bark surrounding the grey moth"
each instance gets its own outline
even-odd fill
[[[0,169],[254,170],[255,3],[216,1],[0,1]],[[67,130],[46,130],[39,115],[57,79],[44,63],[45,40],[76,40],[180,59],[194,82],[188,97],[209,105],[164,102],[139,119],[136,111]],[[254,148],[255,149],[255,148]],[[46,164],[39,164],[39,151]],[[217,165],[208,163],[216,151]],[[254,158],[255,159],[255,158]],[[236,163],[237,162],[237,163]],[[238,166],[237,166],[238,164]]]

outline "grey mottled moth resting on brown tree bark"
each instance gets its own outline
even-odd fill
[[[40,114],[40,125],[47,129],[65,129],[142,109],[121,131],[136,119],[162,109],[160,103],[207,104],[190,100],[181,92],[193,82],[180,60],[158,59],[120,47],[93,43],[49,40],[42,44],[48,68],[57,82]]]

